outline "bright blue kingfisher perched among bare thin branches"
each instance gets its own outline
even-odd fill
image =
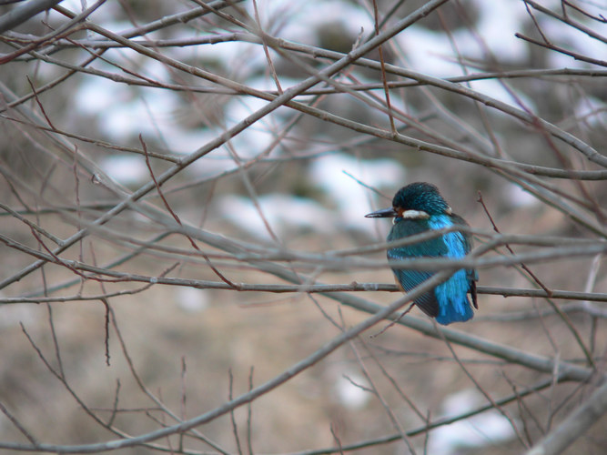
[[[468,227],[468,223],[451,211],[451,207],[440,196],[439,189],[430,183],[411,183],[400,188],[392,199],[392,207],[369,213],[365,217],[391,217],[392,228],[388,242],[407,238],[450,226]],[[460,259],[470,253],[472,240],[468,232],[452,231],[438,238],[432,238],[413,245],[389,248],[388,259],[411,260],[414,258],[453,258]],[[392,268],[397,286],[404,292],[419,286],[435,272],[423,270],[405,270]],[[431,289],[413,303],[430,318],[442,325],[451,322],[464,322],[472,319],[476,301],[476,281],[479,279],[475,269],[460,269],[448,280]]]

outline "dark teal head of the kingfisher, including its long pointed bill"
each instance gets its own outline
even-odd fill
[[[440,196],[439,188],[430,183],[411,183],[401,187],[392,199],[392,207],[369,213],[369,218],[425,219],[431,215],[451,214],[449,204]]]

